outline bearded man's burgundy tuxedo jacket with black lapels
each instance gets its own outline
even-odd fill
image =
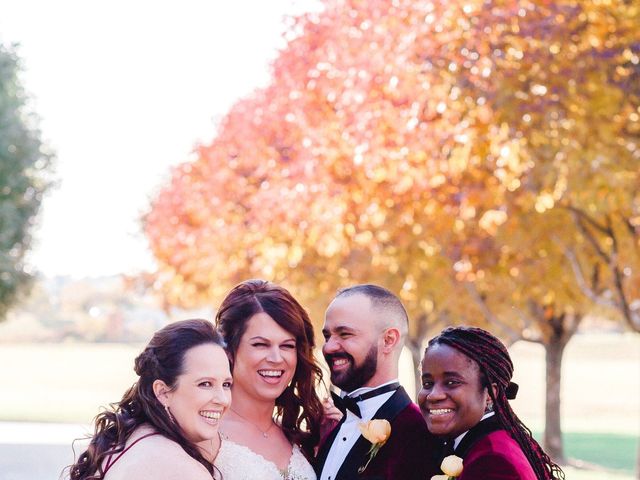
[[[440,442],[429,433],[420,410],[402,387],[373,418],[389,420],[389,439],[367,468],[358,473],[358,469],[367,462],[371,448],[371,443],[360,436],[332,480],[425,480],[439,473],[437,455]],[[342,422],[338,423],[319,446],[315,462],[318,478],[341,425]]]

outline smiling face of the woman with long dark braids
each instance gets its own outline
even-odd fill
[[[431,433],[457,437],[480,422],[489,401],[476,362],[447,345],[427,349],[418,404]]]

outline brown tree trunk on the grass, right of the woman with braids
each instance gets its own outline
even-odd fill
[[[546,359],[546,399],[544,449],[557,463],[565,463],[560,424],[560,384],[562,355],[566,343],[558,338],[545,345]]]

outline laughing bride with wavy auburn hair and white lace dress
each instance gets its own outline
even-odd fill
[[[233,402],[221,421],[215,465],[225,480],[316,480],[321,379],[313,327],[291,294],[263,280],[237,285],[216,324],[227,342]]]

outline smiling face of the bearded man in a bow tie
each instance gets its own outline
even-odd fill
[[[365,295],[337,297],[325,316],[322,353],[331,382],[346,392],[376,386],[381,335]]]

